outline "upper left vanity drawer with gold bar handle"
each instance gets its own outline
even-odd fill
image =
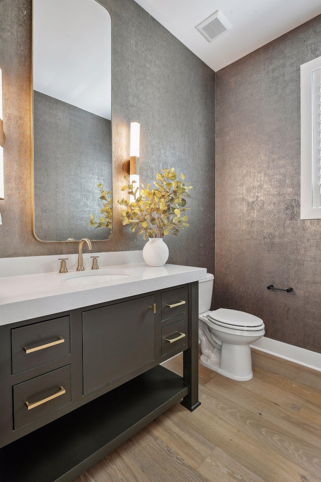
[[[23,372],[70,353],[70,317],[14,328],[12,373]]]

